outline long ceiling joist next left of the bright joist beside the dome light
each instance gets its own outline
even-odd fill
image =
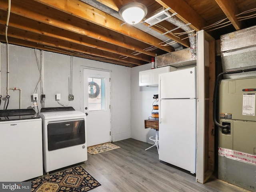
[[[26,1],[25,1],[26,2]],[[50,8],[45,6],[45,9],[40,8],[39,10],[34,10],[33,7],[35,5],[29,5],[22,3],[20,4],[17,0],[12,0],[12,8],[11,13],[17,14],[19,16],[23,16],[26,18],[30,18],[40,23],[49,24],[51,26],[55,26],[57,28],[61,28],[63,30],[67,30],[70,32],[74,32],[76,34],[80,34],[82,36],[87,36],[90,38],[94,38],[98,41],[104,41],[115,46],[120,46],[126,49],[130,49],[138,52],[142,52],[144,54],[155,56],[153,52],[147,52],[144,49],[148,48],[150,45],[145,44],[144,42],[136,42],[132,38],[123,36],[122,34],[113,32],[111,30],[104,30],[100,28],[100,26],[96,26],[92,23],[82,23],[82,20],[77,20],[75,18],[69,17],[66,18],[60,15],[54,15],[51,12]],[[38,4],[34,1],[29,1],[30,3]],[[8,2],[6,0],[0,0],[0,9],[7,10]],[[58,19],[60,18],[60,19]],[[63,32],[65,34],[65,32]],[[143,46],[143,47],[142,47]]]

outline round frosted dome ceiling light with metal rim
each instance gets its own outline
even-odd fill
[[[119,9],[119,14],[128,24],[136,24],[140,22],[147,14],[148,9],[144,4],[132,2],[123,5]]]

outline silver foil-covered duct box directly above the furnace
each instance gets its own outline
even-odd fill
[[[220,36],[222,70],[236,71],[256,68],[256,26]],[[256,72],[224,75],[226,79],[255,77]]]

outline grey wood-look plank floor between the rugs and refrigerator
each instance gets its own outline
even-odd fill
[[[92,192],[247,192],[218,179],[200,184],[189,172],[160,162],[155,147],[145,151],[151,144],[131,138],[113,144],[120,148],[88,153],[81,165],[101,184]]]

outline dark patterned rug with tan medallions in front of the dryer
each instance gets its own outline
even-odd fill
[[[31,181],[31,192],[81,192],[101,184],[78,166]]]

